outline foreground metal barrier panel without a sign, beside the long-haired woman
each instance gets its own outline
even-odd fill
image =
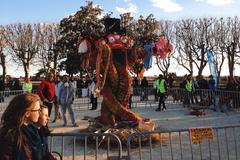
[[[122,143],[110,133],[52,133],[49,149],[64,160],[122,160]]]

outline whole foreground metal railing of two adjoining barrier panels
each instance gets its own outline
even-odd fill
[[[49,140],[50,151],[57,151],[64,160],[239,160],[240,158],[239,124],[136,132],[127,138],[126,156],[123,156],[121,140],[111,133],[54,133]]]

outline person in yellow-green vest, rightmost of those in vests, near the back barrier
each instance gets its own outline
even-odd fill
[[[192,76],[188,75],[186,80],[183,82],[184,86],[184,99],[183,99],[183,107],[190,107],[190,98],[192,94]]]

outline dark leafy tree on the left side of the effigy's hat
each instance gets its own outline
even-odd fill
[[[78,39],[84,36],[103,35],[103,25],[98,18],[101,13],[102,9],[99,6],[87,1],[87,5],[80,7],[77,13],[61,20],[61,38],[57,42],[57,49],[64,53],[62,58],[67,57],[67,60],[59,65],[61,70],[66,69],[69,74],[81,71]]]

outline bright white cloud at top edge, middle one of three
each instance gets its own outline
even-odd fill
[[[153,6],[163,9],[165,12],[179,12],[183,8],[174,2],[174,0],[152,0]]]

